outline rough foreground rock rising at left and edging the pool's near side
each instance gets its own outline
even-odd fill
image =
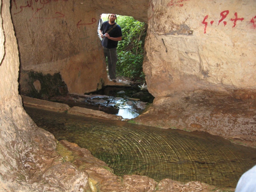
[[[37,127],[22,107],[18,94],[19,53],[10,1],[2,0],[0,5],[0,191],[211,191],[215,188],[200,182],[169,179],[156,185],[153,179],[139,175],[118,177],[87,149],[68,141],[58,142],[51,133]]]

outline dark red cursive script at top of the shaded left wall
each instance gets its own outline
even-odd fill
[[[36,10],[33,13],[33,16],[30,18],[29,21],[31,21],[32,18],[37,18],[37,19],[54,19],[54,18],[64,17],[64,14],[62,14],[60,12],[55,12],[55,15],[53,15],[52,17],[35,17],[35,15],[38,14],[38,12],[40,10],[42,10],[46,4],[50,4],[51,2],[57,2],[57,1],[59,1],[59,0],[29,0],[29,1],[26,2],[25,5],[20,5],[20,7],[18,8],[18,6],[16,4],[16,0],[12,0],[12,2],[15,5],[16,10],[18,11],[18,12],[15,12],[14,15],[23,12],[24,9],[28,9],[29,8],[31,10]],[[68,0],[61,0],[61,1],[68,1]]]

